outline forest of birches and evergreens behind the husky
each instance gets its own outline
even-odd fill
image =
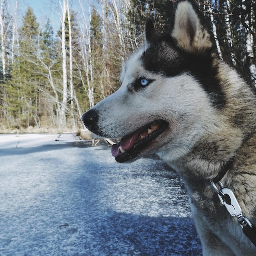
[[[81,115],[120,86],[121,64],[152,18],[171,26],[174,0],[55,0],[59,29],[20,0],[0,0],[0,132],[83,129]],[[221,58],[256,85],[256,1],[199,0]],[[20,21],[19,21],[20,20]]]

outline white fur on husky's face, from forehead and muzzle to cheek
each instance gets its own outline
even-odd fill
[[[160,144],[150,150],[171,162],[186,155],[206,132],[214,132],[219,117],[215,118],[206,92],[190,74],[168,78],[144,70],[139,60],[144,50],[137,51],[125,64],[119,90],[94,109],[100,113],[99,125],[105,136],[112,138],[123,137],[156,119],[171,121],[170,128],[158,138]],[[139,92],[129,92],[139,77],[155,81]]]

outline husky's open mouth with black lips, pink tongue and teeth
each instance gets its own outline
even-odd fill
[[[111,153],[116,161],[120,163],[135,159],[167,127],[168,123],[164,120],[153,121],[143,128],[121,138],[118,144],[112,145]]]

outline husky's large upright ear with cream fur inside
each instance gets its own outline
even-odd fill
[[[177,2],[171,36],[180,48],[193,54],[203,53],[213,46],[199,18],[198,7],[187,0]]]

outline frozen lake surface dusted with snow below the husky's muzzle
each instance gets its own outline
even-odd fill
[[[0,135],[1,256],[200,256],[180,177],[70,134]]]

